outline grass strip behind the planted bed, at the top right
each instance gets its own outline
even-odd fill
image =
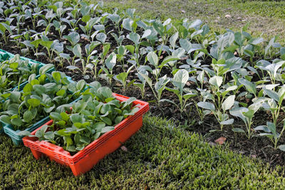
[[[104,4],[110,9],[137,9],[145,19],[201,19],[220,32],[225,28],[239,31],[249,23],[249,31],[254,36],[262,35],[269,39],[280,35],[281,43],[285,43],[284,1],[105,0]],[[231,17],[227,18],[226,15]]]

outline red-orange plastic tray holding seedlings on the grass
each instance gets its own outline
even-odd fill
[[[120,101],[125,101],[129,98],[115,93],[113,93],[113,95]],[[107,154],[118,149],[123,142],[129,139],[140,129],[140,127],[142,127],[142,115],[149,110],[149,105],[147,102],[142,102],[140,100],[136,100],[134,105],[139,107],[139,110],[135,115],[127,117],[116,125],[114,130],[106,132],[73,156],[62,147],[58,147],[57,145],[46,141],[40,142],[36,137],[24,137],[24,145],[31,149],[31,152],[36,159],[39,159],[44,155],[59,164],[70,167],[75,176],[84,174],[86,171],[92,169],[100,159],[103,159]],[[52,123],[53,120],[50,120],[46,122],[45,125],[51,125]],[[34,130],[31,134],[35,134],[36,131],[40,129],[41,127]]]

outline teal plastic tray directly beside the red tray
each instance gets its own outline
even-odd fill
[[[77,102],[78,100],[81,100],[81,97],[78,97],[76,100],[74,100],[73,102]],[[73,103],[71,102],[71,104]],[[33,132],[33,130],[36,130],[38,127],[41,127],[43,124],[45,124],[46,122],[48,122],[48,120],[51,120],[49,118],[49,116],[44,117],[42,120],[39,120],[38,122],[36,122],[35,124],[33,124],[31,127],[28,127],[26,130],[24,131],[28,131],[28,132]],[[13,143],[16,146],[19,146],[21,144],[23,144],[23,137],[22,135],[19,135],[19,132],[21,132],[21,130],[14,130],[13,126],[10,124],[6,124],[4,122],[2,122],[4,124],[4,127],[2,127],[2,129],[4,129],[4,133],[7,134],[9,137],[11,137]],[[1,133],[1,131],[0,131]]]

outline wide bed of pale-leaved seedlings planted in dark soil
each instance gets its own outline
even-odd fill
[[[134,85],[158,107],[170,102],[182,115],[195,112],[199,123],[214,117],[220,130],[232,126],[248,138],[263,131],[259,136],[279,145],[285,48],[277,37],[254,38],[247,27],[221,34],[199,20],[142,20],[135,9],[110,11],[102,2],[3,1],[0,7],[3,46],[14,43],[27,56],[56,60],[82,78],[121,83],[124,92]],[[162,98],[166,90],[177,98]],[[254,116],[264,111],[269,120],[256,126]]]

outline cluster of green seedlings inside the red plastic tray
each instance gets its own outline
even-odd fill
[[[138,107],[133,107],[135,98],[120,102],[113,97],[110,88],[97,87],[90,91],[88,99],[74,103],[70,114],[51,112],[53,124],[44,125],[34,137],[57,144],[69,152],[78,152],[138,111]]]

